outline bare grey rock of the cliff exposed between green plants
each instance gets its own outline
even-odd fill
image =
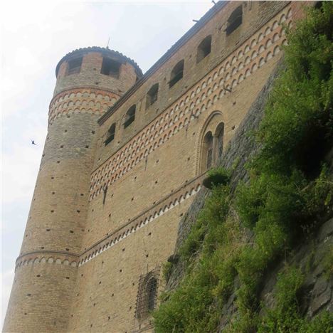
[[[257,99],[250,107],[248,115],[243,120],[242,125],[238,128],[226,153],[223,155],[220,165],[226,169],[232,170],[231,175],[231,190],[235,191],[239,181],[248,181],[249,176],[245,169],[245,164],[253,155],[260,149],[259,145],[250,135],[251,132],[258,129],[260,121],[263,117],[265,104],[268,100],[268,95],[273,88],[275,78],[278,73],[283,69],[282,61],[277,65],[275,71],[270,75],[263,90],[258,95]],[[333,174],[333,159],[329,159],[329,169]],[[204,206],[205,199],[209,196],[208,189],[201,189],[197,194],[196,199],[192,203],[189,211],[184,215],[181,220],[178,232],[178,239],[176,242],[175,255],[170,258],[174,263],[169,273],[169,278],[166,283],[166,290],[174,290],[181,282],[184,276],[186,263],[182,262],[181,257],[177,255],[179,248],[184,243],[186,236],[191,231],[191,226],[194,225],[199,211]],[[317,315],[321,310],[333,311],[332,308],[332,290],[333,290],[333,276],[332,273],[332,248],[333,248],[333,218],[327,218],[327,221],[322,221],[321,227],[317,232],[311,233],[309,237],[302,239],[302,242],[292,250],[292,253],[285,255],[274,263],[268,273],[265,273],[260,291],[260,300],[265,305],[265,309],[270,309],[274,306],[275,300],[273,293],[276,288],[277,275],[282,271],[285,264],[297,265],[305,276],[305,282],[302,287],[302,295],[300,301],[302,302],[301,308],[303,314],[312,318]],[[250,242],[253,235],[250,231],[246,231],[245,238]],[[327,273],[328,272],[328,273]],[[234,292],[228,298],[228,302],[223,307],[221,312],[221,321],[219,324],[219,331],[223,332],[230,318],[237,310],[236,305],[236,290],[238,289],[238,277],[235,279]],[[262,314],[262,313],[260,313]]]

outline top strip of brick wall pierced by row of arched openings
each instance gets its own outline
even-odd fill
[[[240,4],[243,4],[243,23],[236,29],[236,31],[233,31],[231,35],[226,36],[225,30],[228,17],[236,7],[240,6]],[[171,110],[172,107],[175,107],[176,102],[179,101],[181,97],[186,97],[186,93],[190,93],[190,95],[188,95],[190,103],[195,102],[195,100],[193,100],[194,96],[191,96],[191,91],[193,91],[194,85],[197,85],[200,81],[203,83],[203,80],[201,79],[206,76],[207,73],[211,73],[212,70],[216,69],[223,60],[228,58],[229,62],[233,61],[232,64],[229,64],[231,66],[229,71],[233,70],[233,67],[235,67],[235,60],[233,60],[234,56],[236,56],[236,60],[239,59],[238,63],[243,63],[245,68],[245,58],[247,58],[247,56],[251,57],[253,51],[258,51],[258,46],[263,43],[263,41],[260,41],[260,43],[258,42],[258,29],[261,28],[261,30],[263,30],[262,27],[265,22],[270,21],[270,19],[273,18],[278,11],[281,11],[287,6],[287,4],[287,1],[270,1],[269,5],[260,1],[249,3],[246,1],[243,3],[239,1],[231,1],[220,11],[216,11],[215,16],[213,16],[210,21],[196,32],[189,41],[181,46],[174,55],[168,58],[158,70],[152,73],[152,75],[149,75],[147,80],[144,80],[144,83],[140,85],[137,90],[134,90],[134,92],[125,99],[125,102],[123,102],[120,107],[117,107],[110,117],[102,123],[99,134],[100,141],[97,145],[95,168],[101,166],[102,163],[109,159],[110,156],[115,154],[119,149],[125,147],[126,144],[128,145],[129,140],[144,127],[147,127],[149,122],[152,122],[158,115],[162,115],[162,112],[165,113],[166,109]],[[277,18],[277,25],[280,23],[279,19],[280,18]],[[284,20],[285,18],[282,18],[282,21]],[[271,22],[270,28],[272,28],[274,22],[275,20]],[[278,26],[278,29],[275,27],[275,33],[277,31],[280,33],[281,28],[281,26]],[[265,33],[265,29],[261,32]],[[211,53],[199,63],[196,63],[197,47],[203,38],[208,35],[212,36]],[[265,39],[268,40],[269,33],[266,35],[267,38]],[[248,40],[249,38],[250,40]],[[253,38],[256,38],[256,43],[251,46]],[[270,38],[273,38],[273,34]],[[238,57],[238,53],[240,51],[240,46],[242,46],[245,41],[250,43],[248,45],[250,51],[246,53],[246,56],[242,60],[240,60],[241,57]],[[265,46],[265,43],[263,43],[263,45]],[[245,44],[243,46],[245,46]],[[238,50],[238,53],[236,50]],[[243,49],[243,54],[244,52],[245,49]],[[184,59],[184,77],[174,86],[169,88],[171,70],[174,68],[174,65],[182,59]],[[226,65],[226,63],[224,65]],[[243,70],[243,72],[245,72],[245,70]],[[242,70],[238,70],[237,68],[236,73],[237,75],[233,75],[233,79],[238,79]],[[213,72],[211,74],[213,74]],[[226,76],[226,73],[223,73],[223,75],[219,74],[219,78],[224,76]],[[146,95],[148,90],[155,83],[159,83],[158,99],[157,102],[146,110]],[[195,90],[196,89],[197,87]],[[197,98],[198,96],[196,95],[195,97]],[[122,100],[124,100],[124,98]],[[129,107],[134,104],[137,106],[136,120],[132,125],[124,129],[123,124],[125,113]],[[113,122],[117,124],[115,141],[107,147],[104,147],[103,138],[107,129]]]

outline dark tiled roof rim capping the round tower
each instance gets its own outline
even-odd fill
[[[58,71],[60,68],[61,63],[65,60],[70,60],[71,58],[75,58],[78,56],[83,56],[86,53],[90,52],[99,52],[102,53],[103,56],[109,56],[110,58],[113,58],[115,60],[119,60],[120,62],[127,62],[130,63],[134,68],[135,72],[137,73],[138,78],[142,77],[142,70],[139,68],[139,65],[132,60],[131,58],[128,58],[127,56],[123,55],[122,53],[115,51],[115,50],[110,50],[110,48],[101,48],[100,46],[89,46],[88,48],[77,48],[76,50],[67,53],[63,58],[60,59],[58,62],[58,65],[56,67],[56,77],[58,77]]]

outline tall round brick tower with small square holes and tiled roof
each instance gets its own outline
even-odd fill
[[[56,68],[48,135],[4,332],[65,332],[88,209],[97,119],[142,75],[108,48],[80,48]]]

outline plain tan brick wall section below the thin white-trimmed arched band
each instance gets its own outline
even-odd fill
[[[178,218],[190,202],[175,206],[80,266],[70,332],[132,332],[139,324],[149,324],[134,317],[139,277],[171,255]],[[159,290],[162,288],[159,278]]]

